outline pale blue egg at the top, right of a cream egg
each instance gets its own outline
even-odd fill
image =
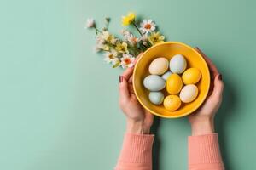
[[[170,70],[173,73],[181,74],[187,67],[187,61],[182,54],[176,54],[170,60]]]

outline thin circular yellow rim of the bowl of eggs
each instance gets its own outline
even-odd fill
[[[143,105],[143,108],[145,108],[147,111],[149,111],[150,113],[154,114],[155,116],[160,116],[160,117],[165,117],[165,118],[179,118],[179,117],[183,117],[183,116],[188,116],[189,114],[191,114],[191,113],[193,113],[194,111],[196,111],[196,110],[204,103],[204,101],[207,99],[207,95],[208,95],[208,93],[209,93],[209,88],[210,88],[210,84],[211,84],[211,75],[210,75],[209,67],[208,67],[208,65],[207,65],[206,60],[201,56],[200,53],[198,53],[198,52],[195,50],[195,48],[192,48],[192,47],[190,47],[189,45],[187,45],[187,44],[185,44],[185,43],[183,43],[183,42],[160,42],[160,43],[158,43],[158,44],[156,44],[156,45],[154,45],[154,46],[148,48],[146,51],[144,51],[143,54],[142,54],[142,56],[140,56],[140,58],[137,59],[137,63],[139,63],[140,59],[143,58],[143,55],[144,55],[144,54],[147,54],[148,51],[150,51],[150,49],[152,49],[152,48],[157,48],[158,46],[161,46],[161,45],[164,45],[164,44],[179,44],[179,45],[183,45],[183,46],[185,46],[186,48],[192,49],[196,54],[198,54],[198,55],[201,57],[201,59],[203,59],[203,61],[204,61],[203,63],[204,63],[204,65],[205,65],[206,68],[207,68],[207,75],[208,75],[208,77],[209,77],[209,80],[208,80],[208,81],[209,81],[210,83],[207,84],[207,93],[204,94],[204,96],[202,97],[201,102],[198,102],[198,104],[195,105],[195,107],[194,107],[193,109],[191,109],[190,111],[187,111],[187,112],[185,112],[185,113],[183,113],[182,115],[179,115],[179,116],[166,116],[166,115],[161,115],[161,114],[159,114],[159,113],[157,113],[157,112],[155,112],[155,111],[150,110],[146,105],[143,104],[142,100],[138,97],[137,90],[136,90],[136,88],[135,88],[135,83],[132,84],[132,87],[133,87],[133,89],[134,89],[135,95],[136,95],[136,97],[137,97],[139,103],[140,103],[141,105]],[[137,71],[137,63],[136,63],[136,65],[134,65],[133,74]],[[132,82],[134,82],[134,81],[135,81],[135,77],[132,77]]]

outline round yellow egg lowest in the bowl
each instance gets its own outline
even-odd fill
[[[177,95],[168,95],[164,100],[164,106],[168,111],[176,111],[181,105],[181,100]]]

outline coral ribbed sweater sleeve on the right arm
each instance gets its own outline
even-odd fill
[[[189,136],[189,170],[224,170],[218,133]]]

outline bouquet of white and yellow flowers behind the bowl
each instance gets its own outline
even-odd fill
[[[136,56],[147,50],[154,44],[164,42],[165,37],[156,29],[153,20],[143,20],[140,27],[137,26],[136,14],[129,13],[122,17],[123,26],[134,26],[140,37],[135,36],[126,29],[121,31],[122,38],[115,37],[108,31],[110,18],[105,19],[105,25],[98,29],[94,19],[88,19],[86,28],[94,29],[96,32],[96,52],[103,52],[104,60],[113,68],[132,67]]]

